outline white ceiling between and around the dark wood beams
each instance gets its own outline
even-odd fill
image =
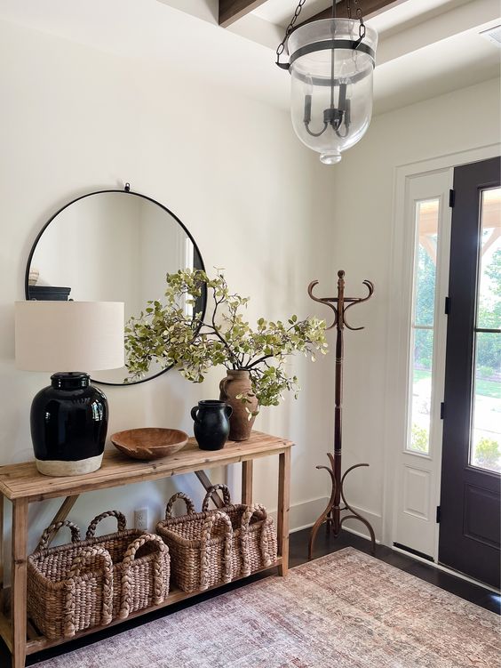
[[[230,28],[218,25],[218,0],[0,0],[0,20],[287,109],[289,76],[274,49],[296,4],[267,0]],[[307,0],[301,20],[329,4]],[[501,51],[479,35],[501,23],[498,0],[397,0],[367,22],[379,32],[376,113],[499,76]]]

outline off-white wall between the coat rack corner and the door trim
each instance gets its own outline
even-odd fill
[[[386,442],[385,419],[388,415],[391,421],[394,398],[402,391],[386,388],[386,374],[397,358],[387,343],[402,316],[396,311],[388,320],[390,296],[398,290],[390,285],[395,168],[493,144],[501,138],[500,118],[497,80],[375,117],[332,178],[338,221],[334,262],[346,270],[346,294],[362,294],[363,278],[376,288],[370,302],[351,310],[353,324],[367,328],[346,333],[344,448],[345,466],[370,463],[347,479],[347,491],[355,507],[369,511],[378,535],[393,512],[384,505],[385,460],[392,471],[399,447]]]

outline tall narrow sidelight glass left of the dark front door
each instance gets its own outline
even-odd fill
[[[430,451],[438,220],[438,198],[416,204],[418,249],[414,267],[413,358],[410,372],[412,400],[408,449],[424,454]]]

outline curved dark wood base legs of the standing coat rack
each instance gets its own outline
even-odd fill
[[[374,534],[374,529],[371,527],[369,520],[362,517],[359,512],[354,511],[352,506],[346,501],[344,490],[345,479],[348,473],[362,466],[369,466],[369,464],[354,464],[354,466],[350,466],[341,477],[341,452],[336,452],[334,455],[327,453],[327,456],[329,457],[330,466],[317,466],[316,468],[328,471],[332,481],[332,491],[330,493],[329,503],[312,527],[308,544],[308,559],[313,559],[314,541],[322,524],[326,524],[328,531],[331,531],[334,537],[337,538],[341,533],[341,528],[343,527],[343,523],[346,522],[346,519],[358,519],[365,525],[365,527],[367,527],[370,534],[370,553],[372,556],[375,556],[376,535]],[[350,514],[341,517],[341,512],[343,511],[349,511]]]

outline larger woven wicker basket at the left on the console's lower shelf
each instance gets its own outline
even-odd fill
[[[115,534],[95,537],[101,519],[115,517]],[[49,536],[69,527],[72,543],[49,548]],[[153,534],[127,529],[123,514],[103,512],[84,541],[72,522],[51,525],[28,557],[28,616],[49,640],[71,638],[92,626],[125,619],[159,605],[169,593],[170,555]]]

